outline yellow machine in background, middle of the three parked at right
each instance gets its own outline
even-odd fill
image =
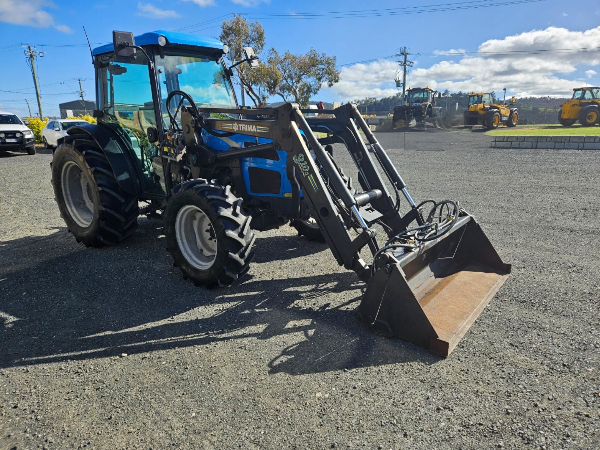
[[[515,97],[512,97],[510,104],[506,104],[505,100],[494,103],[490,92],[471,92],[468,97],[469,109],[463,113],[464,125],[484,125],[489,130],[496,130],[500,124],[517,126],[519,112],[515,107]]]

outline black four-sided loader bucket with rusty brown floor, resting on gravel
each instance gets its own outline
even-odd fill
[[[444,357],[511,272],[470,215],[419,251],[394,256],[369,281],[356,317]]]

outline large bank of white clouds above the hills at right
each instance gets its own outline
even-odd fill
[[[572,89],[582,83],[582,77],[575,75],[578,67],[582,64],[600,65],[600,52],[541,51],[525,54],[523,50],[583,49],[598,47],[598,42],[600,26],[586,31],[569,31],[551,26],[488,40],[478,48],[481,55],[465,55],[458,61],[439,61],[430,67],[419,65],[423,59],[416,61],[407,77],[407,86],[429,85],[452,92],[498,92],[507,88],[510,94],[519,96],[570,97]],[[457,51],[448,50],[452,53]],[[508,53],[491,55],[490,52]],[[396,69],[397,64],[389,60],[344,67],[340,82],[331,88],[323,86],[323,89],[330,89],[334,97],[340,100],[394,95],[398,92],[394,83]],[[590,77],[588,73],[586,75]]]

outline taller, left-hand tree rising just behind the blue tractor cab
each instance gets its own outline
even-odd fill
[[[219,39],[229,46],[230,52],[227,56],[234,63],[245,58],[242,51],[244,47],[253,47],[256,55],[265,48],[265,30],[262,25],[259,22],[247,22],[239,16],[221,23]],[[271,76],[274,76],[272,68],[251,69],[248,64],[242,63],[233,68],[232,78],[244,89],[254,106],[264,106]]]

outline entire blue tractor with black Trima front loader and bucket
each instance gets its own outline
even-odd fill
[[[511,266],[458,202],[410,197],[355,105],[317,117],[293,103],[239,108],[226,52],[166,31],[113,32],[94,50],[98,123],[70,128],[52,162],[70,232],[101,247],[130,236],[140,214],[162,219],[184,278],[215,287],[250,270],[253,230],[310,224],[367,284],[362,323],[448,356]],[[340,144],[358,189],[336,162]]]

